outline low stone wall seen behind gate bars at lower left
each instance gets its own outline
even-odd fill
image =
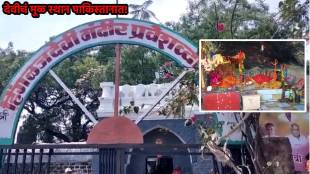
[[[79,152],[95,152],[97,149],[54,149],[54,153],[79,153]],[[11,153],[15,153],[15,150],[12,150]],[[9,174],[15,173],[31,173],[31,155],[26,155],[25,165],[23,165],[23,153],[19,151],[18,158],[16,160],[17,166],[15,165],[15,155],[11,155],[10,165],[9,165]],[[31,153],[31,150],[28,149],[28,153]],[[48,170],[48,149],[44,149],[44,155],[42,156],[41,169],[39,165],[40,156],[39,149],[35,150],[36,155],[33,159],[33,173],[41,174],[47,173]],[[8,165],[7,159],[4,157],[4,164],[1,166],[0,174],[5,173]],[[1,161],[0,161],[1,162]],[[49,165],[50,174],[64,174],[65,170],[70,168],[73,174],[91,174],[95,171],[93,166],[93,156],[92,155],[52,155]],[[15,172],[16,171],[16,172]],[[41,172],[40,172],[41,171]]]

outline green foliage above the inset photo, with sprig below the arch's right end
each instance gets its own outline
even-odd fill
[[[294,1],[294,2],[293,2]],[[292,3],[295,5],[292,6]],[[287,5],[289,4],[289,5]],[[297,0],[285,0],[284,11],[280,11],[283,21],[288,21],[293,18],[302,23],[298,32],[303,32],[302,29],[308,31],[309,21],[306,16],[309,9],[309,0],[304,4]],[[306,8],[307,7],[307,8]],[[294,33],[286,31],[286,27],[278,27],[278,19],[274,14],[270,14],[268,6],[263,1],[248,1],[248,0],[198,0],[189,1],[189,11],[184,14],[176,23],[167,23],[167,26],[182,35],[194,41],[198,45],[199,39],[270,39],[270,38],[289,38],[295,37]],[[297,12],[296,9],[301,11]],[[284,16],[283,16],[284,15]],[[217,24],[224,24],[224,31],[217,30]],[[301,38],[301,36],[297,37]],[[216,50],[216,48],[213,48]],[[300,57],[300,56],[299,56]],[[299,61],[300,62],[300,61]],[[197,72],[196,72],[197,73]],[[195,95],[195,90],[192,90],[192,95]],[[176,95],[170,101],[167,107],[163,108],[161,113],[179,115],[184,114],[185,101]],[[183,106],[182,106],[183,105]]]

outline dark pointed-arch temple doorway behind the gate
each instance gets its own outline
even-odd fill
[[[161,127],[147,131],[143,138],[144,144],[161,145],[158,148],[171,144],[184,144],[177,134]],[[176,167],[180,167],[183,173],[192,172],[191,159],[187,149],[174,148],[164,153],[157,153],[157,151],[156,148],[134,150],[127,166],[127,174],[157,174],[158,172],[171,174]]]

